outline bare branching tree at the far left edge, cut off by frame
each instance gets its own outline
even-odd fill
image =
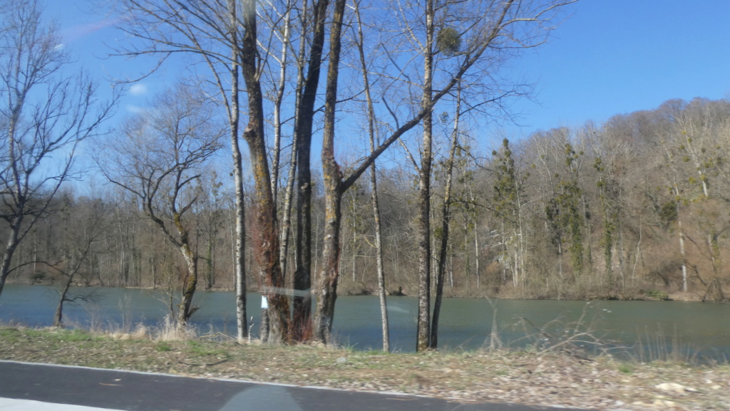
[[[79,143],[99,132],[113,104],[99,104],[88,75],[72,71],[37,1],[3,0],[0,10],[0,218],[7,223],[1,293],[15,250],[74,177]]]

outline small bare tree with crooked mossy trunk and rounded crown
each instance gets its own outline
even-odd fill
[[[141,201],[147,217],[180,250],[187,272],[177,318],[187,323],[198,283],[198,254],[185,220],[197,197],[193,183],[201,166],[221,147],[226,128],[212,115],[212,101],[177,85],[153,104],[153,109],[130,118],[123,134],[109,144],[101,172]]]

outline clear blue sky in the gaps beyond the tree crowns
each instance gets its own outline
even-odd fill
[[[99,4],[93,1],[92,4]],[[134,75],[120,58],[99,60],[104,43],[123,39],[115,16],[90,13],[86,0],[50,0],[47,15],[61,24],[64,42],[96,74]],[[730,97],[729,0],[580,0],[547,45],[512,61],[516,77],[537,82],[536,100],[512,110],[520,137],[539,129],[602,122],[648,110],[667,99]],[[122,110],[134,110],[161,85],[162,72],[131,88]]]

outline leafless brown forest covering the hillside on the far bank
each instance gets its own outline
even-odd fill
[[[470,147],[493,136],[464,131],[462,137],[450,200],[447,296],[641,299],[687,291],[682,298],[729,298],[730,165],[724,159],[730,101],[670,100],[603,124],[504,139],[486,154]],[[444,166],[434,172],[434,221],[442,219]],[[188,195],[198,200],[188,232],[203,288],[231,290],[233,199],[211,170],[191,185]],[[378,169],[377,182],[387,289],[413,295],[417,175],[395,164]],[[315,273],[322,264],[321,187],[315,179]],[[370,194],[369,185],[357,185],[343,201],[341,293],[377,291]],[[434,226],[437,242],[440,225]],[[56,196],[20,245],[18,262],[25,265],[11,280],[62,281],[63,267],[80,258],[91,237],[79,285],[179,286],[183,258],[139,201],[114,189],[92,196],[67,189]],[[255,258],[246,261],[251,270]],[[261,285],[256,275],[248,281],[252,290]]]

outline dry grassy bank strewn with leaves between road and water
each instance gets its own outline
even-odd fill
[[[399,391],[464,402],[557,404],[596,410],[730,409],[727,364],[642,364],[553,352],[388,354],[318,345],[239,344],[220,336],[180,339],[148,330],[90,334],[4,326],[0,328],[0,359]],[[662,383],[684,388],[667,388]]]

